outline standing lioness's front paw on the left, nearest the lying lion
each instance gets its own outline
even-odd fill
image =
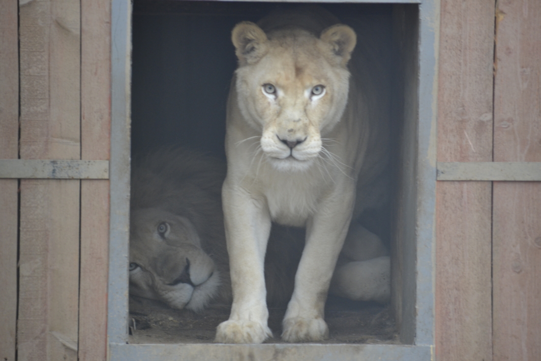
[[[272,337],[267,325],[256,321],[224,321],[216,327],[214,342],[220,344],[260,344]]]

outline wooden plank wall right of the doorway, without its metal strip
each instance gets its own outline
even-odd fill
[[[541,161],[541,2],[441,1],[438,161]],[[438,360],[541,354],[541,184],[438,182]]]

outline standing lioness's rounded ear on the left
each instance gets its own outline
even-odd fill
[[[235,25],[231,40],[235,46],[235,54],[242,65],[258,61],[267,51],[265,31],[249,21]]]

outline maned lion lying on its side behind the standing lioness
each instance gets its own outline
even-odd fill
[[[221,207],[225,173],[225,164],[219,160],[186,149],[163,148],[135,162],[130,202],[130,295],[196,312],[213,302],[231,303]],[[265,261],[269,304],[287,304],[303,246],[301,229],[273,227]],[[385,249],[366,254],[378,256],[385,254]],[[374,261],[365,263],[370,262]],[[355,274],[339,279],[347,276]],[[381,286],[368,285],[345,293],[337,287],[335,293],[358,300],[388,298],[388,285],[382,288],[384,292],[372,292],[372,296],[367,289],[381,291]]]

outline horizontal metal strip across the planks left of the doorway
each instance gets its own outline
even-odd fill
[[[0,178],[109,179],[109,160],[0,159]]]

